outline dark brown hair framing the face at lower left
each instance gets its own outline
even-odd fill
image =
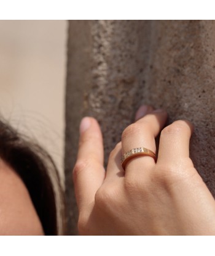
[[[22,178],[46,235],[63,234],[63,191],[52,157],[0,120],[0,157]]]

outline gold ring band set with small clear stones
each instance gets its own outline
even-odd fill
[[[153,157],[156,161],[156,155],[150,149],[146,149],[146,147],[137,147],[136,149],[131,149],[130,151],[123,154],[121,158],[122,168],[125,170],[127,162],[134,157],[139,157],[140,155],[148,155],[149,157]]]

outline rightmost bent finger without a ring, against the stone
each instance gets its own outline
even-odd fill
[[[193,125],[186,120],[178,120],[166,126],[160,134],[157,164],[176,165],[189,158],[189,141]]]

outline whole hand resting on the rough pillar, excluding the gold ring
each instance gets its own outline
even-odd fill
[[[189,158],[192,125],[176,121],[163,130],[164,110],[142,106],[103,167],[103,139],[94,118],[80,124],[80,144],[74,167],[79,208],[79,233],[85,235],[208,235],[215,234],[215,203]],[[157,162],[141,156],[125,171],[122,154],[136,147],[156,151]]]

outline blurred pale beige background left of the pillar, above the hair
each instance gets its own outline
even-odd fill
[[[1,118],[52,155],[63,180],[66,20],[0,21]]]

